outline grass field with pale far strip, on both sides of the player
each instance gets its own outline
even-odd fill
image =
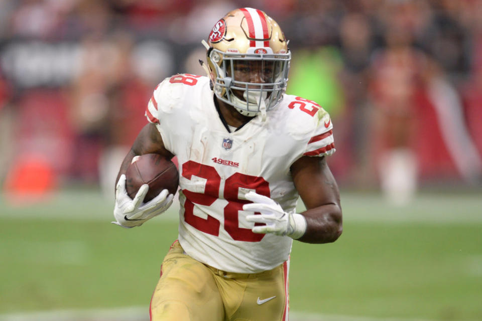
[[[293,245],[294,314],[482,320],[480,195],[426,194],[394,208],[377,195],[343,193],[342,207],[337,242]],[[109,224],[111,208],[88,191],[22,206],[0,200],[0,319],[58,309],[147,311],[177,236],[178,206],[131,230]]]

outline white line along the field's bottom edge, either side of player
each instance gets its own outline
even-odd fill
[[[0,314],[0,321],[148,321],[149,308],[128,307],[116,309],[52,310],[29,313]],[[435,321],[419,318],[369,317],[306,312],[290,312],[291,321]]]

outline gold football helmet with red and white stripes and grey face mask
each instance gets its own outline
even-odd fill
[[[286,90],[291,60],[278,24],[261,10],[236,9],[203,44],[216,97],[243,115],[266,117]]]

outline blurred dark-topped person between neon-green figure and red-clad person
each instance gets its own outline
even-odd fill
[[[344,163],[347,163],[346,181],[351,185],[368,187],[374,184],[373,180],[367,177],[371,173],[367,171],[370,161],[367,153],[370,146],[367,91],[370,80],[369,66],[375,48],[375,35],[370,18],[356,12],[346,14],[340,21],[339,43],[342,58],[339,80],[345,100],[344,115],[340,123],[345,128],[343,132],[346,136],[338,137],[339,133],[337,134],[336,139],[342,138],[343,144],[338,144],[336,148],[338,154],[347,155],[343,157]],[[336,157],[336,154],[334,156]]]

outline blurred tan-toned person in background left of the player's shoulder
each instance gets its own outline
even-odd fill
[[[70,118],[75,128],[73,178],[96,182],[98,159],[108,130],[108,91],[127,76],[130,39],[89,37],[83,40],[78,77],[72,82]]]

